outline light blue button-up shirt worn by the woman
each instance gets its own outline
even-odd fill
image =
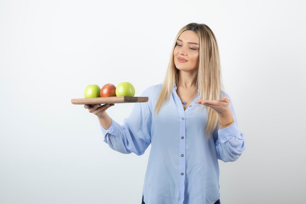
[[[203,105],[197,96],[184,111],[174,86],[170,100],[158,115],[155,102],[161,85],[151,86],[141,96],[146,103],[135,103],[123,124],[112,120],[102,132],[104,141],[115,151],[142,155],[151,144],[143,186],[146,204],[214,204],[219,199],[219,165],[235,161],[245,149],[244,136],[235,122],[216,129],[208,139]],[[223,95],[228,95],[222,92]]]

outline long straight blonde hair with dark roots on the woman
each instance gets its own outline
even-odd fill
[[[172,47],[172,55],[166,71],[166,77],[155,105],[155,112],[157,114],[162,105],[169,100],[173,87],[177,83],[178,69],[175,68],[173,51],[176,46],[176,40],[185,30],[194,31],[199,37],[200,48],[197,74],[199,98],[205,100],[219,100],[221,97],[222,78],[219,48],[215,34],[206,24],[189,23],[182,27],[176,35]],[[207,109],[208,121],[206,135],[209,137],[218,127],[218,114],[210,107],[205,108]]]

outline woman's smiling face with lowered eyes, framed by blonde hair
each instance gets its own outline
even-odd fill
[[[184,71],[197,69],[199,47],[199,38],[194,31],[185,30],[182,32],[173,51],[175,67]]]

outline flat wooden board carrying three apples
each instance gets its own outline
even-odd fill
[[[148,102],[149,97],[112,96],[97,98],[73,98],[72,104],[140,103]]]

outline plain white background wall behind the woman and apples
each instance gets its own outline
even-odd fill
[[[111,150],[88,84],[164,79],[178,30],[209,25],[247,148],[219,162],[222,204],[303,203],[306,15],[300,0],[0,0],[0,204],[140,204],[149,150]],[[108,113],[118,122],[132,104]]]

